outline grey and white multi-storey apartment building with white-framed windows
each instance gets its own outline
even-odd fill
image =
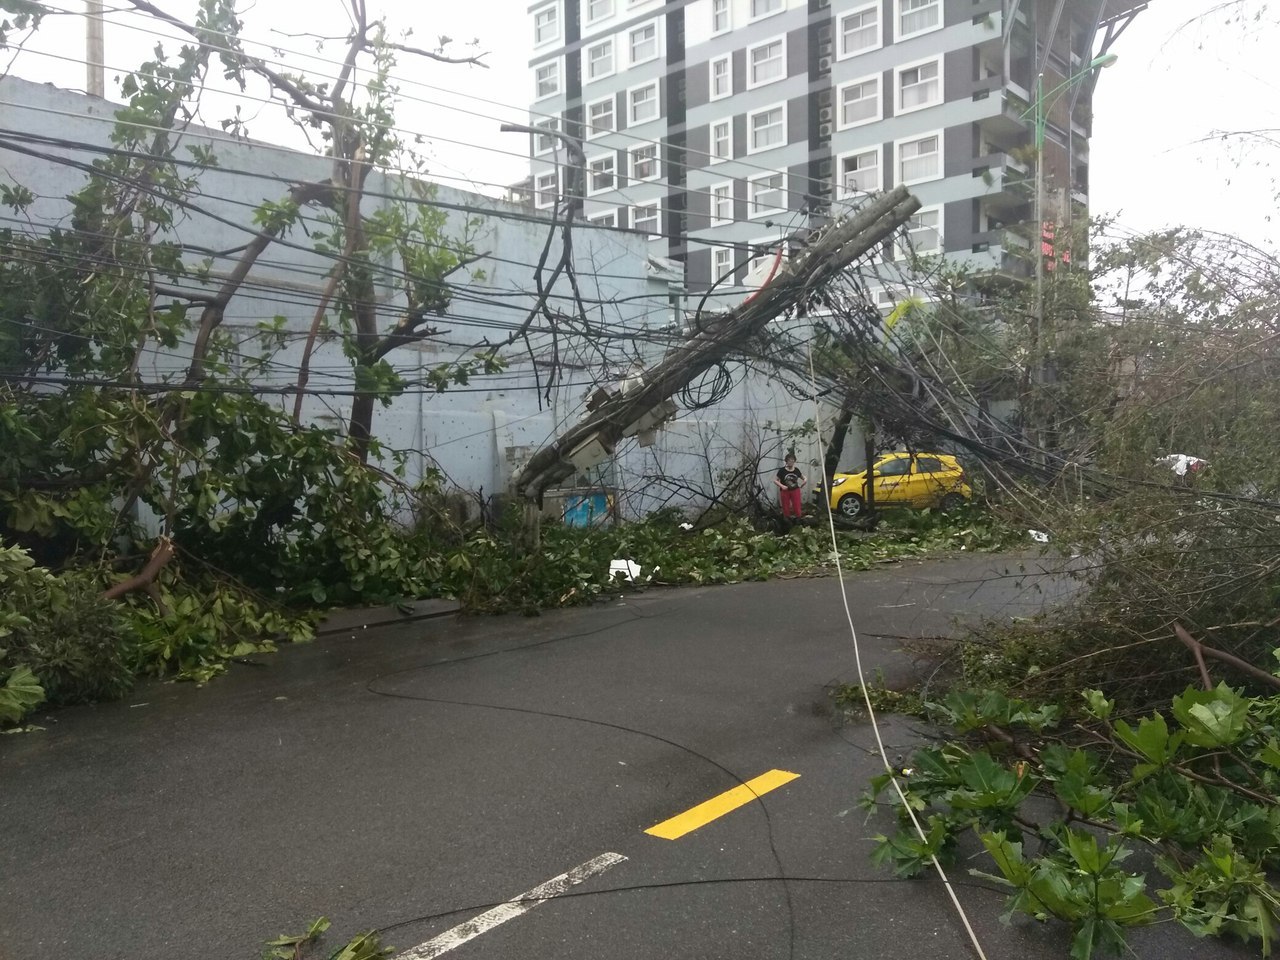
[[[649,232],[699,289],[902,183],[923,202],[915,252],[1024,274],[1037,223],[1061,236],[1087,210],[1089,64],[1144,6],[538,0],[531,123],[548,133],[531,138],[534,202],[581,195],[589,220]],[[585,169],[553,131],[581,140]]]

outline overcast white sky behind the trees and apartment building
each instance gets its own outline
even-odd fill
[[[79,0],[47,0],[79,10]],[[160,0],[180,13],[189,0]],[[108,8],[111,0],[106,0]],[[425,12],[424,8],[431,8]],[[1280,15],[1251,19],[1265,12],[1266,0],[1243,0],[1245,22],[1217,15],[1184,27],[1193,15],[1185,0],[1152,0],[1114,47],[1119,60],[1102,74],[1094,100],[1091,152],[1091,207],[1112,214],[1123,228],[1147,230],[1184,224],[1235,233],[1254,243],[1275,246],[1280,224],[1272,221],[1280,187],[1275,183],[1280,147],[1242,150],[1235,142],[1211,140],[1216,132],[1280,128]],[[433,64],[406,56],[397,69],[410,100],[401,125],[431,142],[430,170],[462,187],[495,192],[525,174],[526,141],[499,133],[502,120],[527,122],[530,77],[526,63],[531,27],[527,0],[471,0],[422,4],[371,0],[371,13],[383,12],[393,27],[412,28],[410,42],[434,46],[438,35],[462,44],[480,41],[489,69]],[[347,24],[338,0],[315,0],[306,24],[291,14],[296,0],[259,0],[244,5],[244,36],[278,44],[287,50],[311,51],[315,41],[270,32],[282,29],[340,33]],[[137,17],[115,17],[106,27],[108,95],[113,77],[150,55],[154,36],[118,24],[147,26]],[[12,72],[28,79],[81,88],[83,68],[70,61],[83,51],[83,19],[68,15],[46,27],[13,60]],[[333,45],[325,56],[335,56]],[[264,55],[268,51],[255,49]],[[56,54],[70,59],[54,59]],[[297,54],[283,59],[294,69],[306,61]],[[116,68],[115,70],[110,68]],[[3,65],[0,65],[3,69]],[[335,69],[312,63],[311,70]],[[419,86],[429,84],[429,86]],[[477,99],[470,99],[477,97]],[[488,101],[488,102],[486,102]],[[225,101],[224,101],[225,102]],[[218,106],[205,122],[215,125]],[[252,118],[257,105],[243,113]],[[453,108],[471,111],[463,113]],[[4,108],[0,105],[0,115]],[[268,114],[269,115],[269,114]],[[278,120],[250,123],[251,136],[282,141]],[[456,141],[456,142],[452,142]],[[3,157],[0,157],[3,163]]]

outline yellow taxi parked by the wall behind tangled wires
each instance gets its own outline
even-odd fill
[[[954,509],[973,497],[964,467],[948,453],[888,453],[876,461],[872,477],[877,507]],[[820,484],[813,495],[822,499]],[[841,516],[859,516],[867,508],[867,471],[836,474],[829,497]]]

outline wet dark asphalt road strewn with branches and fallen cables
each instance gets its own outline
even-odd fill
[[[890,682],[914,668],[902,637],[1068,589],[980,557],[846,582]],[[0,957],[250,960],[320,914],[447,960],[969,957],[936,881],[868,860],[879,760],[824,692],[852,677],[828,577],[356,631],[61,710],[0,739]],[[771,771],[797,776],[645,832]],[[1066,955],[954,876],[989,957]],[[535,890],[563,896],[493,911]],[[1233,955],[1167,924],[1135,945]]]

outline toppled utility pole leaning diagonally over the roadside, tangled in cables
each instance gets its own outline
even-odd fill
[[[637,388],[611,394],[554,443],[535,453],[512,483],[526,500],[613,454],[626,436],[652,429],[675,412],[671,397],[718,361],[742,347],[771,320],[810,300],[854,260],[887,239],[920,209],[905,187],[876,197],[850,218],[809,238],[773,279],[727,314],[709,317],[701,330],[644,372]]]

